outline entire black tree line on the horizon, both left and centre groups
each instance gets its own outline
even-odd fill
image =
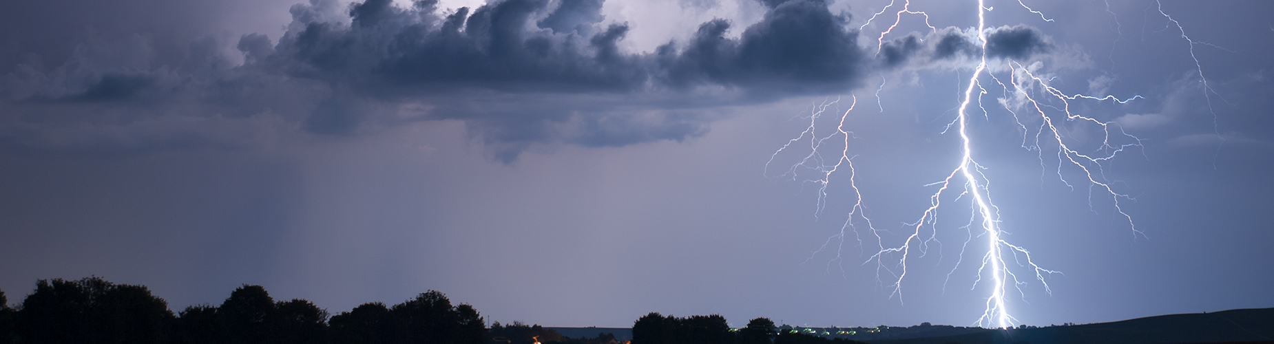
[[[781,333],[768,319],[731,329],[719,315],[642,316],[631,344],[820,344],[856,343]],[[617,344],[613,334],[564,338],[521,322],[492,324],[473,306],[452,305],[437,290],[394,306],[363,303],[330,315],[294,298],[275,301],[261,285],[245,284],[219,306],[196,305],[173,313],[144,285],[98,276],[42,279],[17,307],[0,290],[0,344]]]

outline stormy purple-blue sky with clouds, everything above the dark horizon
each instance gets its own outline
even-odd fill
[[[1274,307],[1274,3],[905,3],[4,1],[0,290],[975,325],[972,89],[1014,324]]]

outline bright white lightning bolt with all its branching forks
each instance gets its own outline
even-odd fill
[[[1027,11],[1040,15],[1040,19],[1045,22],[1054,22],[1054,19],[1046,17],[1043,13],[1027,6],[1023,1],[1018,0],[1017,3]],[[889,11],[889,9],[896,5],[897,4],[894,1],[891,1],[889,5],[874,13],[859,29],[866,28],[877,20],[877,18],[880,18],[882,14]],[[845,240],[851,232],[859,247],[862,247],[864,238],[874,238],[877,241],[875,252],[868,256],[862,264],[875,264],[878,282],[889,290],[891,298],[898,297],[899,302],[903,299],[903,283],[907,282],[908,259],[924,257],[929,251],[929,246],[931,243],[936,243],[938,211],[943,208],[943,201],[959,201],[967,199],[970,201],[968,222],[959,228],[968,231],[968,240],[962,246],[959,259],[956,261],[947,278],[950,280],[950,275],[963,265],[963,257],[966,254],[964,250],[970,247],[970,242],[972,242],[973,238],[985,240],[986,252],[981,255],[977,278],[971,289],[977,289],[981,284],[984,288],[990,290],[990,294],[985,299],[985,308],[976,324],[984,327],[1009,327],[1018,324],[1018,320],[1013,317],[1009,305],[1005,301],[1009,292],[1017,290],[1017,293],[1024,299],[1026,290],[1023,288],[1033,278],[1041,284],[1047,294],[1051,294],[1052,290],[1049,287],[1046,276],[1061,273],[1042,268],[1034,261],[1031,251],[1014,245],[1005,238],[1006,232],[1001,228],[1000,209],[991,200],[991,182],[984,173],[986,167],[977,162],[977,154],[973,144],[975,136],[970,131],[971,113],[976,113],[976,111],[980,110],[984,117],[990,120],[990,112],[982,102],[984,96],[990,94],[985,85],[998,85],[1003,89],[1003,96],[998,98],[999,104],[1003,110],[1012,113],[1014,122],[1022,130],[1022,147],[1024,149],[1037,152],[1041,168],[1047,169],[1047,164],[1045,163],[1045,150],[1055,149],[1056,152],[1049,153],[1049,155],[1056,155],[1057,181],[1074,190],[1075,185],[1071,181],[1068,181],[1068,175],[1063,173],[1063,168],[1066,168],[1066,171],[1074,171],[1068,173],[1071,173],[1070,176],[1078,176],[1078,178],[1070,177],[1070,180],[1083,180],[1084,182],[1082,182],[1082,185],[1088,186],[1089,208],[1094,209],[1094,197],[1102,197],[1111,201],[1113,213],[1117,213],[1124,220],[1126,220],[1134,238],[1145,237],[1144,232],[1136,227],[1133,215],[1125,211],[1127,203],[1135,201],[1135,199],[1119,191],[1117,187],[1113,186],[1113,182],[1107,178],[1106,169],[1108,168],[1107,163],[1115,157],[1131,149],[1139,149],[1142,147],[1142,139],[1124,131],[1117,122],[1102,121],[1096,116],[1088,116],[1074,111],[1073,103],[1102,103],[1110,101],[1112,104],[1124,104],[1142,99],[1143,97],[1135,94],[1131,97],[1116,97],[1066,93],[1050,84],[1055,76],[1037,75],[1034,64],[1023,65],[1022,62],[1010,59],[991,59],[987,52],[987,34],[994,32],[994,29],[987,28],[986,14],[987,11],[991,11],[992,8],[986,6],[985,0],[978,0],[977,6],[977,37],[975,43],[980,48],[981,54],[976,60],[973,60],[977,64],[972,68],[972,74],[970,74],[968,78],[963,79],[961,83],[962,92],[959,93],[959,104],[956,108],[954,118],[948,122],[943,130],[943,134],[954,133],[959,136],[959,154],[956,157],[954,166],[950,172],[947,173],[941,181],[926,185],[926,187],[936,187],[936,191],[930,195],[929,206],[920,213],[919,218],[916,218],[915,222],[906,223],[907,231],[902,233],[905,238],[901,243],[892,246],[885,245],[892,233],[884,229],[878,229],[871,224],[871,219],[865,214],[864,195],[855,181],[856,171],[854,166],[854,155],[850,154],[850,139],[856,136],[854,136],[852,131],[846,129],[846,118],[850,116],[850,112],[854,111],[857,98],[854,98],[850,108],[841,113],[840,121],[831,134],[819,134],[818,120],[829,111],[829,107],[837,104],[840,99],[813,106],[809,116],[803,117],[809,121],[809,126],[806,126],[806,129],[798,138],[789,140],[771,155],[771,159],[766,163],[766,175],[771,176],[771,164],[776,162],[780,153],[792,150],[795,149],[796,143],[804,143],[808,140],[810,147],[809,153],[796,163],[791,164],[784,173],[777,175],[777,177],[790,177],[792,181],[800,180],[803,183],[817,185],[818,197],[815,217],[818,217],[823,214],[827,208],[827,190],[833,178],[832,175],[837,171],[847,171],[848,176],[845,176],[843,181],[847,181],[850,189],[852,190],[854,205],[850,208],[840,232],[828,237],[827,241],[814,252],[814,255],[836,246],[836,257],[831,261],[840,264],[842,262],[840,248],[843,248]],[[1194,55],[1194,46],[1201,45],[1201,42],[1196,42],[1187,37],[1185,29],[1181,27],[1181,23],[1164,13],[1162,5],[1159,5],[1158,10],[1171,22],[1172,25],[1176,25],[1176,28],[1181,32],[1181,38],[1189,42],[1191,47],[1190,56],[1194,59],[1195,68],[1198,68],[1198,76],[1203,84],[1204,96],[1208,97],[1209,111],[1213,111],[1210,97],[1212,94],[1215,94],[1215,90],[1213,90],[1208,84],[1208,80],[1204,78],[1203,66]],[[1108,4],[1106,11],[1112,17],[1115,15],[1115,13],[1110,10]],[[901,9],[894,11],[894,22],[888,25],[888,28],[883,29],[877,39],[877,54],[879,54],[880,48],[884,46],[885,36],[899,25],[903,14],[916,14],[924,17],[925,25],[936,32],[936,28],[929,23],[929,14],[911,9],[908,0],[903,0]],[[1116,27],[1116,32],[1117,31],[1119,28]],[[1119,34],[1122,33],[1120,32]],[[995,64],[995,69],[992,69],[992,62]],[[992,70],[995,71],[992,73]],[[1008,75],[996,75],[998,73]],[[885,79],[882,75],[882,83],[875,90],[877,104],[880,108],[880,112],[884,112],[880,99],[880,92],[884,89],[884,82]],[[977,110],[973,110],[973,106],[976,106]],[[1215,127],[1215,112],[1213,111],[1212,115]],[[1065,125],[1063,125],[1063,122]],[[1094,139],[1085,141],[1071,138],[1068,133],[1073,130],[1089,130],[1091,133],[1096,133],[1096,135],[1093,135]],[[1097,141],[1098,139],[1096,138],[1101,138],[1099,141]],[[834,149],[838,152],[836,157],[824,158],[820,149]],[[804,176],[803,172],[809,173],[809,171],[813,171],[815,177],[804,180],[798,177]],[[952,190],[958,190],[959,192],[957,195],[950,195],[956,192]],[[813,259],[813,255],[810,259]],[[808,260],[809,259],[806,259],[806,261]],[[831,261],[828,262],[829,265]],[[1033,276],[1028,278],[1026,274]],[[1009,288],[1010,285],[1013,287],[1012,289]]]

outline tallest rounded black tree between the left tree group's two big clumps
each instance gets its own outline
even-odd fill
[[[270,343],[266,320],[274,313],[274,299],[261,285],[240,287],[217,308],[228,343]]]

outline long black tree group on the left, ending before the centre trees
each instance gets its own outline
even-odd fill
[[[220,306],[173,313],[147,287],[92,276],[39,280],[17,310],[0,292],[0,344],[489,343],[473,306],[454,306],[436,290],[329,316],[308,301],[274,301],[261,285],[245,284]]]

